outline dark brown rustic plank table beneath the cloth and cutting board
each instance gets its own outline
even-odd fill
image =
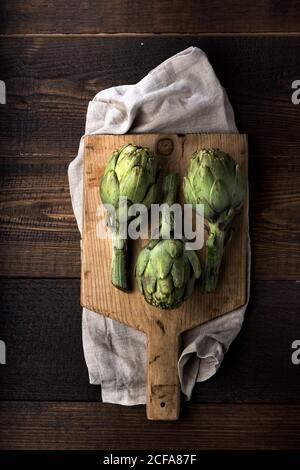
[[[1,9],[0,447],[299,448],[299,2],[5,0]],[[67,166],[96,92],[134,83],[190,45],[207,53],[249,135],[251,302],[181,420],[149,422],[143,406],[102,404],[88,384]]]

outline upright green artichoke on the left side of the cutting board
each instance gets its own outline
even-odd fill
[[[112,237],[111,280],[114,286],[130,290],[127,240],[121,235],[121,220],[131,204],[144,204],[147,209],[155,202],[157,162],[148,148],[125,144],[115,150],[100,182],[100,197],[104,205],[115,209]],[[125,199],[126,207],[122,204]]]

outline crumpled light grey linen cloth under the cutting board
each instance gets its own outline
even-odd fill
[[[238,132],[226,92],[199,48],[189,47],[170,57],[134,85],[100,91],[88,105],[85,135],[152,132]],[[78,155],[68,168],[80,232],[83,152],[81,139]],[[249,255],[250,245],[248,287]],[[207,380],[218,370],[240,331],[246,306],[183,335],[178,373],[186,399],[190,399],[195,382]],[[82,337],[89,380],[101,384],[102,400],[123,405],[145,403],[145,335],[84,308]]]

